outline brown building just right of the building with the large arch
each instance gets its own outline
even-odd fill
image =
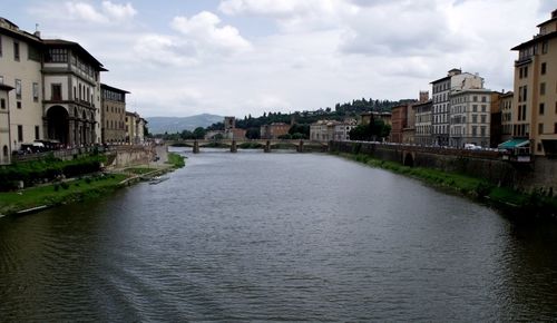
[[[100,85],[100,138],[102,144],[126,141],[126,90]]]

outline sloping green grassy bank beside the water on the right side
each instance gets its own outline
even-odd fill
[[[339,154],[342,157],[418,178],[444,192],[487,202],[500,209],[520,216],[548,216],[557,214],[557,198],[541,192],[521,193],[497,187],[486,179],[433,168],[409,167],[400,163],[375,159],[363,154]]]

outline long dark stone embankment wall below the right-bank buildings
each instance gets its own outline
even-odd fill
[[[354,141],[332,141],[330,151],[368,154],[378,159],[398,161],[407,166],[436,168],[486,178],[494,185],[527,192],[557,189],[557,160],[543,157],[525,165],[504,161],[497,151]]]

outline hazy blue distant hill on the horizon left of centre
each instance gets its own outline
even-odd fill
[[[194,130],[197,127],[206,128],[215,123],[222,123],[224,117],[203,114],[190,117],[150,117],[147,127],[152,134],[175,134],[183,130]]]

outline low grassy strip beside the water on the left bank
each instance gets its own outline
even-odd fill
[[[20,192],[0,193],[0,214],[38,206],[55,206],[77,200],[97,198],[119,187],[126,175],[97,175],[81,179],[59,182],[27,188]]]

